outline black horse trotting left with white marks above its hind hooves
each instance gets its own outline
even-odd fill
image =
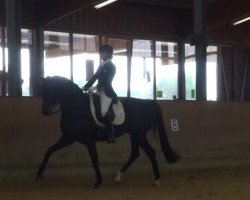
[[[99,169],[96,142],[106,141],[106,135],[100,133],[91,115],[89,106],[89,96],[72,81],[63,77],[47,77],[42,79],[42,114],[51,115],[54,107],[58,103],[61,110],[60,127],[62,137],[51,146],[44,155],[44,159],[37,172],[37,179],[43,177],[43,172],[51,154],[74,142],[79,142],[87,146],[95,173],[96,181],[94,187],[102,183],[102,175]],[[120,169],[116,179],[120,180],[120,175],[125,173],[128,167],[139,157],[141,147],[150,159],[154,171],[155,184],[159,183],[160,173],[155,157],[155,151],[146,138],[147,131],[152,127],[157,127],[161,149],[169,163],[175,163],[180,156],[174,153],[169,145],[165,132],[162,111],[160,106],[153,100],[141,100],[136,98],[120,98],[124,106],[126,119],[122,125],[114,126],[116,137],[125,133],[129,134],[131,140],[131,153],[127,163]]]

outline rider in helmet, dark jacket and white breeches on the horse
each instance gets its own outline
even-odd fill
[[[113,100],[117,100],[117,95],[113,90],[112,81],[116,73],[116,67],[112,63],[113,47],[109,44],[104,44],[99,49],[102,63],[98,67],[93,77],[83,86],[83,90],[88,90],[98,79],[97,91],[101,101],[101,115],[104,118],[106,131],[108,132],[108,143],[115,143],[114,129],[111,118],[108,114],[109,107]]]

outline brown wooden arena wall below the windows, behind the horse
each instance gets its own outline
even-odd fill
[[[189,160],[250,155],[250,103],[160,101],[165,127],[173,148],[186,165]],[[26,166],[36,169],[45,150],[60,137],[59,115],[42,116],[39,98],[0,98],[0,167]],[[171,119],[177,119],[179,131],[171,130]],[[149,139],[163,160],[158,136]],[[123,163],[129,155],[128,136],[114,145],[97,145],[100,163]],[[142,157],[139,161],[147,159]],[[86,148],[73,144],[52,156],[53,164],[90,163]],[[165,161],[164,161],[165,163]]]

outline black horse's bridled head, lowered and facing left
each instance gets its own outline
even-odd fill
[[[55,107],[60,98],[60,84],[57,80],[57,77],[41,78],[42,114],[45,116],[57,113]]]

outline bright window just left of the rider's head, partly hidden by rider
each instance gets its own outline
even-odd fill
[[[100,64],[99,37],[73,34],[73,80],[82,87]]]

